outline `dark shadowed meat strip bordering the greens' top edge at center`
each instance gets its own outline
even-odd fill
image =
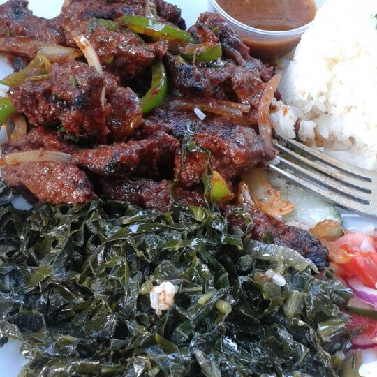
[[[170,205],[174,202],[171,190],[172,182],[156,182],[151,179],[117,179],[101,178],[103,193],[115,200],[124,200],[133,205],[146,209],[159,209],[161,212],[168,212]],[[203,193],[199,190],[184,190],[177,188],[175,192],[177,202],[186,205],[204,205]]]

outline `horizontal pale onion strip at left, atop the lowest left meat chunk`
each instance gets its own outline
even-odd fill
[[[55,162],[70,163],[73,159],[71,154],[59,151],[24,151],[7,154],[3,161],[6,165],[18,165],[29,162]]]

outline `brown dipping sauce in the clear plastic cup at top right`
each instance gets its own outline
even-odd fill
[[[311,22],[317,6],[313,0],[216,0],[223,10],[235,20],[256,29],[287,31]],[[240,31],[242,34],[242,31]],[[245,34],[247,31],[245,31]],[[243,35],[251,54],[272,61],[288,54],[300,41],[300,36],[290,38],[250,38]]]

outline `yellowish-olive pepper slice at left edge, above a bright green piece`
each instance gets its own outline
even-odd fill
[[[51,65],[50,60],[43,54],[36,54],[36,57],[20,72],[10,73],[0,80],[0,84],[7,87],[15,87],[22,84],[29,77],[47,75],[47,68]]]

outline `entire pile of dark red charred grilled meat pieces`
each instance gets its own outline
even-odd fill
[[[156,20],[185,29],[176,6],[153,1]],[[175,202],[205,205],[202,177],[207,163],[232,187],[242,172],[256,165],[265,167],[274,158],[274,149],[256,133],[260,98],[273,68],[253,59],[237,32],[212,13],[200,15],[189,29],[197,43],[221,43],[224,56],[212,62],[193,63],[168,53],[167,40],[145,43],[126,27],[112,31],[95,20],[145,15],[145,5],[145,0],[72,0],[54,20],[32,15],[24,0],[10,0],[0,6],[0,36],[26,36],[76,47],[74,37],[84,34],[105,70],[101,74],[80,61],[60,61],[52,64],[50,77],[45,80],[26,80],[10,89],[9,98],[17,112],[39,127],[8,143],[2,154],[62,151],[73,155],[73,160],[68,164],[7,165],[2,170],[7,184],[27,188],[41,202],[76,205],[89,202],[95,191],[166,212]],[[9,57],[17,70],[27,64],[21,53]],[[176,102],[177,98],[185,101],[185,97],[191,98],[191,104],[232,101],[232,110],[239,114],[224,112],[228,117],[221,117],[207,112],[200,120],[187,107],[177,110],[173,101],[165,101],[142,119],[138,96],[122,84],[135,85],[133,89],[142,96],[151,87],[149,67],[161,59]],[[150,96],[148,101],[155,101],[153,91]],[[250,112],[244,110],[249,107]],[[50,124],[61,126],[61,132],[45,127]],[[64,133],[73,135],[73,140],[80,138],[84,145],[68,144]],[[184,138],[191,138],[199,150],[185,151],[182,161],[180,140]],[[174,177],[179,179],[173,185]],[[228,214],[232,205],[220,207]],[[299,251],[318,268],[328,265],[327,249],[308,232],[287,226],[256,208],[248,210],[254,222],[251,237],[263,240],[269,233],[275,244]],[[228,219],[229,226],[245,227],[237,216]]]

